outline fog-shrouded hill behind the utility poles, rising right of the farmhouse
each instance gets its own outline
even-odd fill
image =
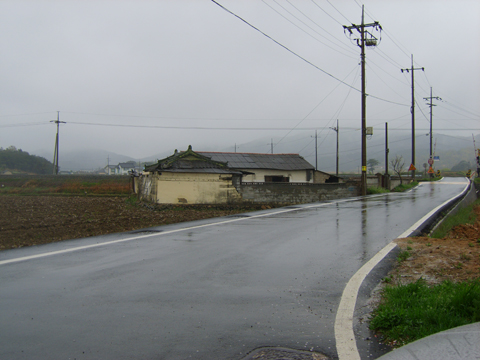
[[[315,134],[302,132],[282,141],[273,139],[274,153],[299,153],[308,162],[315,166]],[[475,137],[477,146],[480,144],[480,134]],[[263,152],[270,153],[271,138],[261,138],[237,146],[238,152]],[[436,145],[435,145],[436,143]],[[461,161],[467,161],[474,166],[475,152],[472,137],[451,136],[435,134],[433,140],[434,154],[440,157],[435,163],[439,169],[452,168]],[[402,131],[398,134],[394,131],[388,134],[389,161],[396,155],[402,156],[408,167],[411,162],[411,134]],[[326,130],[317,136],[318,169],[326,172],[335,172],[336,167],[336,133]],[[339,134],[339,171],[356,172],[361,165],[361,136],[357,130],[344,130],[340,128]],[[194,149],[195,150],[195,149]],[[200,149],[196,149],[200,150]],[[234,152],[235,148],[228,147],[218,151]],[[430,138],[424,133],[418,133],[415,137],[415,154],[417,170],[423,170],[423,164],[427,163],[430,154]],[[384,169],[385,165],[385,132],[376,132],[367,137],[367,159],[376,159],[379,166],[376,171]],[[408,163],[408,164],[407,164]],[[389,165],[390,167],[390,165]]]

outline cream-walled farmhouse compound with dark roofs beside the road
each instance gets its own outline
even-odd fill
[[[329,177],[298,154],[195,152],[189,146],[145,166],[134,183],[140,198],[162,204],[298,203],[345,196],[346,186],[323,186],[338,183]]]

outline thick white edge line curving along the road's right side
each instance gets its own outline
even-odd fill
[[[459,183],[455,183],[458,185]],[[430,211],[423,218],[418,220],[413,226],[399,236],[399,238],[408,237],[421,224],[423,224],[430,216],[432,216],[442,206],[448,202],[464,195],[468,189],[469,183],[464,187],[463,191],[445,201],[443,204],[437,206]],[[357,302],[358,291],[362,285],[363,280],[372,271],[372,269],[383,260],[387,254],[397,246],[393,241],[380,250],[374,257],[372,257],[366,264],[364,264],[348,281],[343,290],[340,304],[338,305],[337,316],[335,317],[335,343],[337,347],[337,354],[339,360],[360,360],[360,354],[357,349],[357,342],[355,341],[355,334],[353,332],[353,313],[355,311],[355,304]]]

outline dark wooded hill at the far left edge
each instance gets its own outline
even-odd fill
[[[53,164],[43,157],[9,146],[6,149],[0,148],[0,172],[3,171],[45,175],[52,173]]]

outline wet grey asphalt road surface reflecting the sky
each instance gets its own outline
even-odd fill
[[[242,359],[263,346],[335,357],[346,282],[466,184],[1,252],[0,359]]]

